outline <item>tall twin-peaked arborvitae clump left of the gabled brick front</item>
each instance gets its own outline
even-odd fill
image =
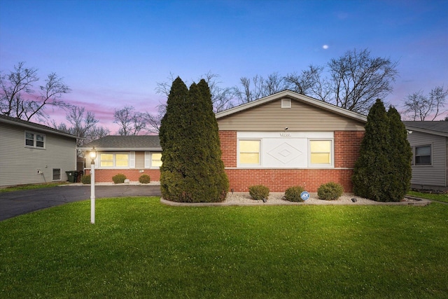
[[[176,106],[176,107],[173,107]],[[173,132],[171,132],[173,130]],[[229,181],[221,160],[218,124],[205,81],[190,90],[173,82],[160,126],[162,196],[174,202],[222,202]]]

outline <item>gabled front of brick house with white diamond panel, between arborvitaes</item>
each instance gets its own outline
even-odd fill
[[[334,181],[353,189],[367,118],[285,90],[216,114],[230,189],[263,184],[272,192]]]

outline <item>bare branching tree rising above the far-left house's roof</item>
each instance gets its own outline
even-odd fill
[[[36,68],[26,68],[25,62],[19,62],[14,71],[0,74],[0,111],[4,115],[31,120],[48,118],[46,106],[69,106],[62,100],[64,93],[70,92],[62,78],[55,73],[48,75],[45,85],[39,86],[35,94],[34,83],[39,81]]]

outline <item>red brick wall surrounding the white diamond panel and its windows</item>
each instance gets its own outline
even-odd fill
[[[235,169],[237,167],[237,132],[220,131],[222,160],[230,181],[230,189],[248,192],[248,187],[262,184],[272,192],[284,192],[290,186],[303,186],[309,192],[316,192],[323,183],[335,181],[351,192],[351,175],[364,132],[335,132],[334,169]]]

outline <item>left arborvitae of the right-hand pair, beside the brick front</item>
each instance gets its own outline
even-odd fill
[[[384,187],[389,179],[389,124],[381,99],[372,106],[367,116],[365,134],[359,158],[353,169],[353,191],[356,195],[380,202],[388,201]]]

